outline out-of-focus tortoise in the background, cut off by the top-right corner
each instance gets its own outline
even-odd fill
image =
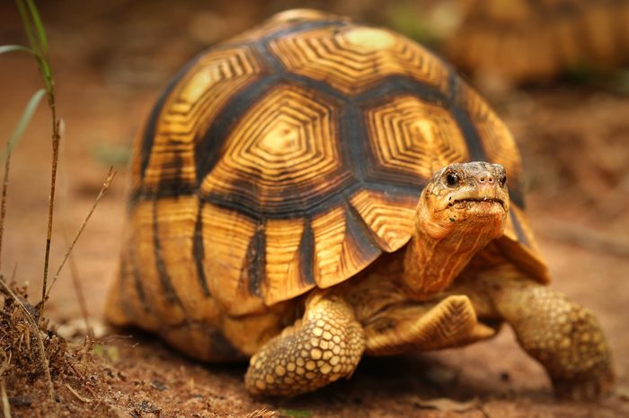
[[[609,69],[629,57],[627,0],[456,0],[447,57],[480,80],[548,81]],[[516,54],[513,51],[517,51]]]

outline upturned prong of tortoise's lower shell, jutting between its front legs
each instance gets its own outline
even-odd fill
[[[438,350],[491,337],[495,330],[476,320],[465,295],[424,303],[396,304],[369,318],[365,327],[366,353],[391,355]]]

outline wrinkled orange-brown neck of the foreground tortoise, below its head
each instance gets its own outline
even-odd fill
[[[418,222],[403,261],[403,285],[412,299],[426,300],[446,288],[474,254],[495,238],[492,231],[470,226],[435,233],[436,225],[421,227]]]

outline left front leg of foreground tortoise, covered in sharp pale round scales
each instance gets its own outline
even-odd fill
[[[252,356],[244,385],[252,395],[295,396],[350,377],[365,347],[354,311],[341,297],[314,293],[302,319]]]

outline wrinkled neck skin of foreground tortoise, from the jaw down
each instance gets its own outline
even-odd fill
[[[506,212],[435,219],[428,205],[419,205],[415,233],[404,254],[405,291],[413,300],[427,300],[443,290],[478,250],[502,236],[505,219]]]

